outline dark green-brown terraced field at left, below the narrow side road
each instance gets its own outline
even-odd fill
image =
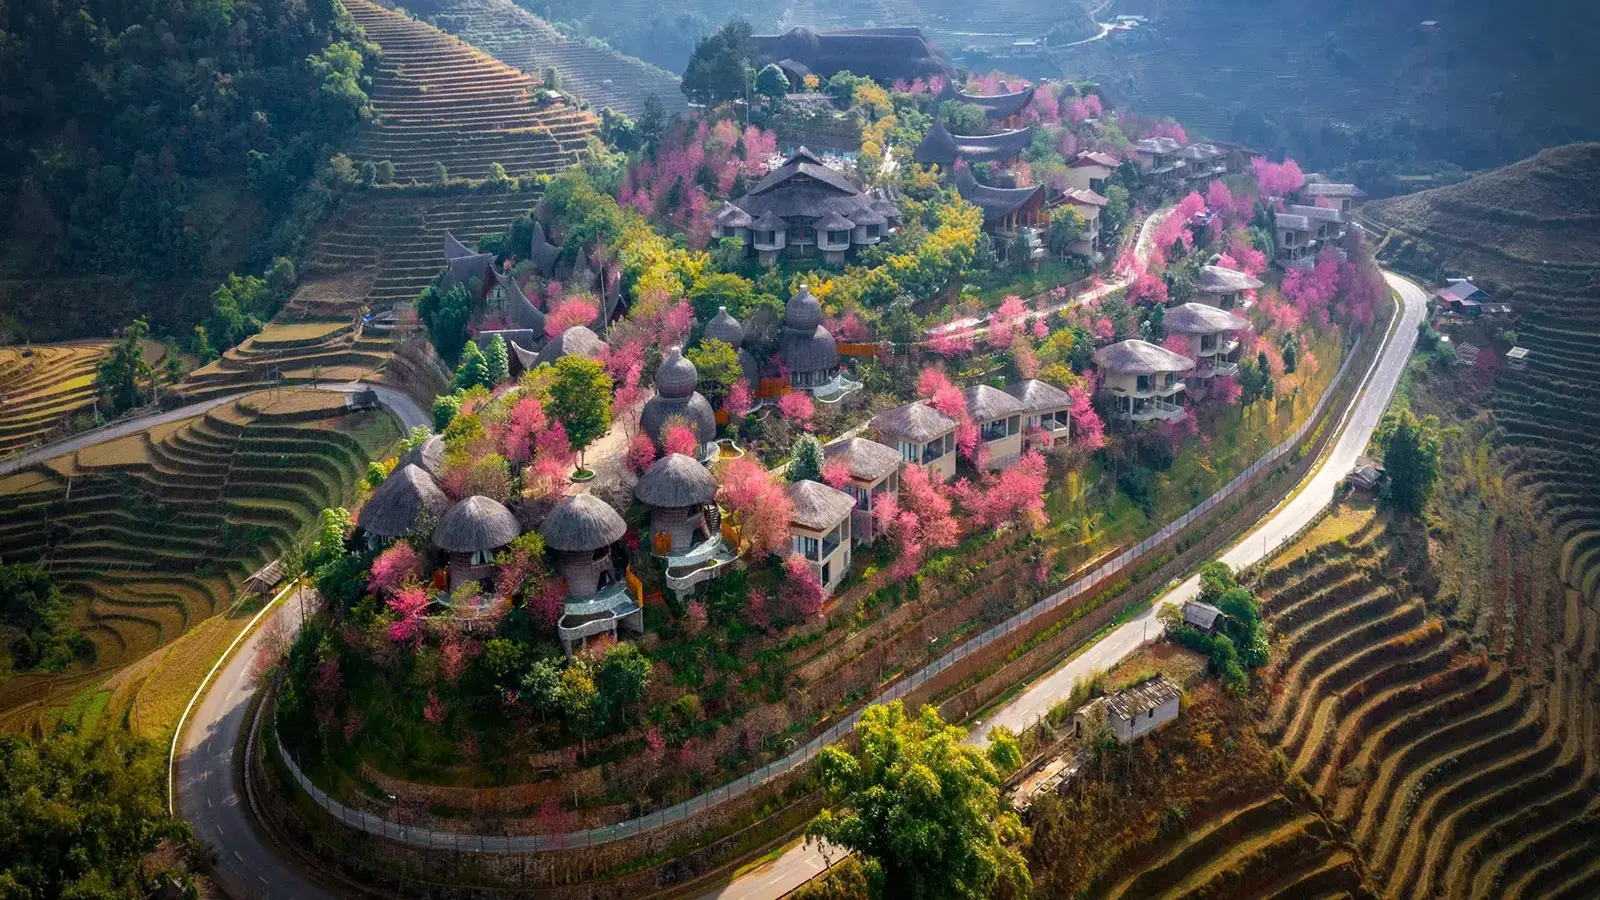
[[[46,567],[94,642],[91,671],[21,676],[0,709],[98,681],[234,605],[398,437],[341,394],[253,394],[0,479],[0,559]]]

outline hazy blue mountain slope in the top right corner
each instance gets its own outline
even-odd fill
[[[1363,186],[1600,136],[1586,0],[1120,0],[1101,19],[1118,13],[1152,22],[1062,53],[1066,75]]]

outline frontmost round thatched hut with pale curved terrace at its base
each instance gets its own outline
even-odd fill
[[[622,540],[626,530],[622,517],[592,493],[568,496],[539,524],[555,570],[566,580],[566,602],[555,634],[568,653],[595,634],[614,636],[618,625],[635,634],[645,631],[643,610],[629,596],[611,554],[611,544]]]

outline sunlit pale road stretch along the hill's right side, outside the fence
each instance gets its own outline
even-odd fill
[[[1344,479],[1355,464],[1355,458],[1371,440],[1373,429],[1378,428],[1378,420],[1389,408],[1389,400],[1411,359],[1416,327],[1427,312],[1427,295],[1421,287],[1394,272],[1384,272],[1384,279],[1400,295],[1400,314],[1379,351],[1378,362],[1366,372],[1355,404],[1346,412],[1333,448],[1306,477],[1298,493],[1278,504],[1254,530],[1218,557],[1222,562],[1235,569],[1250,565],[1299,532],[1333,500],[1339,480]],[[989,719],[979,722],[966,740],[987,743],[989,729],[995,725],[1005,725],[1016,732],[1032,725],[1053,705],[1072,693],[1072,685],[1078,679],[1115,666],[1147,639],[1158,636],[1162,625],[1155,618],[1155,610],[1162,604],[1181,602],[1195,596],[1198,589],[1200,577],[1195,575],[1154,597],[1138,617],[1085,647],[1061,668],[1035,681],[1014,700],[992,713]],[[830,849],[824,857],[822,847],[794,844],[776,860],[746,871],[734,881],[701,895],[699,900],[778,900],[822,873],[829,865],[827,858],[838,860],[842,855],[842,850]]]

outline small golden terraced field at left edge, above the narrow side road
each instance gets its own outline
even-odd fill
[[[110,341],[0,348],[0,456],[45,440],[94,404],[94,367]],[[146,357],[160,362],[160,344]]]

